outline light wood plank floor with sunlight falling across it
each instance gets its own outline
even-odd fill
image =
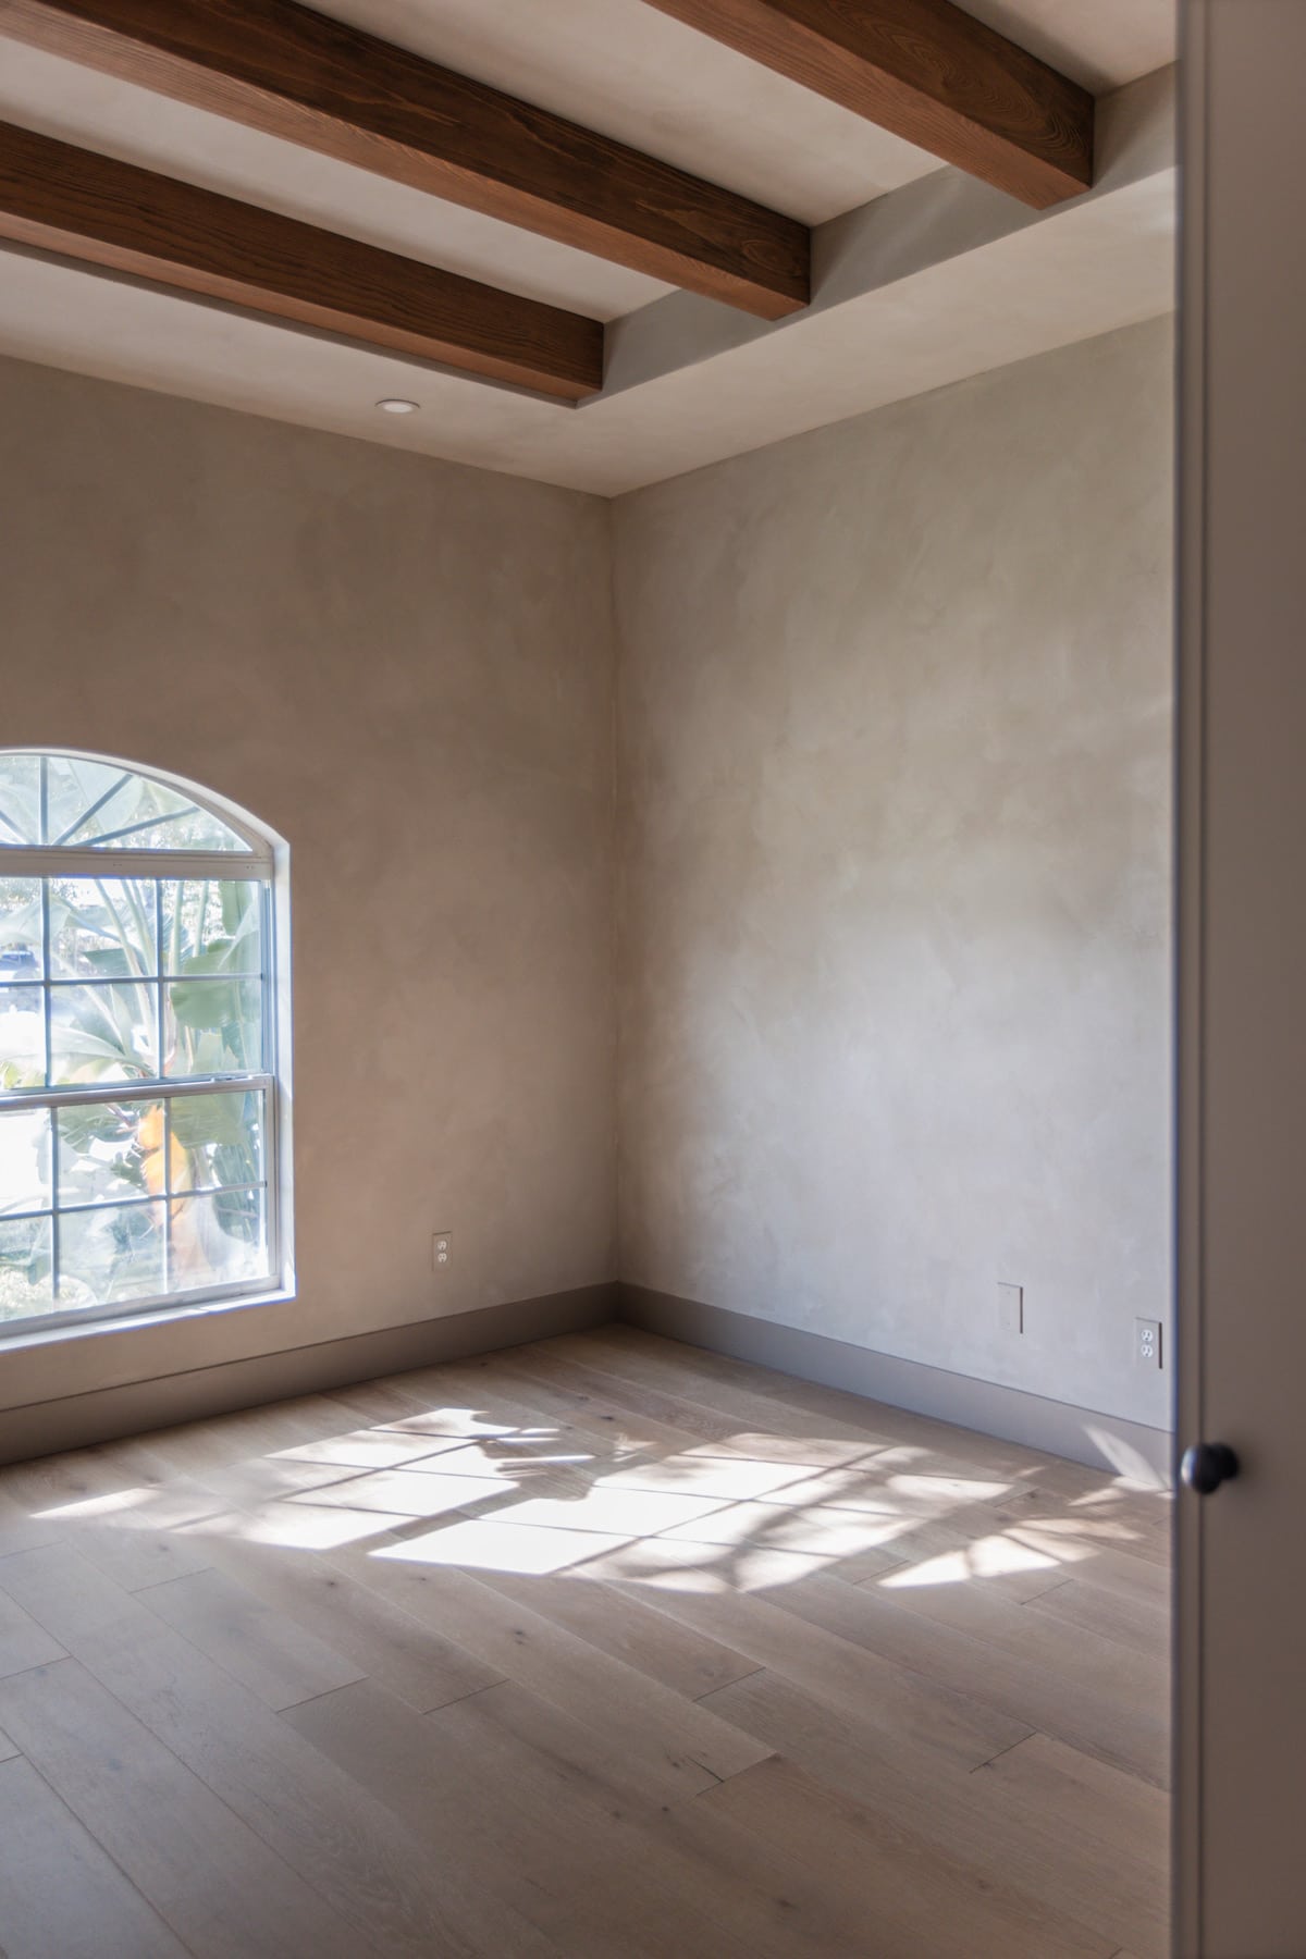
[[[605,1328],[0,1473],[8,1959],[1161,1959],[1169,1505]]]

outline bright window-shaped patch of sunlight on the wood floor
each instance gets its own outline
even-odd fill
[[[217,1463],[211,1434],[178,1430],[182,1463],[192,1436],[196,1459],[172,1487],[139,1483],[31,1514],[321,1553],[370,1544],[374,1557],[415,1565],[701,1593],[840,1571],[885,1593],[1012,1581],[1020,1597],[1014,1581],[1142,1532],[1120,1514],[1124,1477],[1057,1497],[1030,1469],[965,1475],[918,1444],[818,1432],[740,1428],[666,1450],[658,1424],[640,1434],[634,1418],[591,1434],[433,1405]],[[1016,1514],[1030,1506],[1055,1514]]]

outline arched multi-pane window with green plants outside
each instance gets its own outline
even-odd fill
[[[180,784],[0,752],[0,1320],[280,1283],[272,884]]]

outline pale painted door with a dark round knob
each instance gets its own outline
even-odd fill
[[[1179,1959],[1306,1959],[1306,0],[1185,0]]]

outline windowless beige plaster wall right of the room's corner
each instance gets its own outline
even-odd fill
[[[617,503],[625,1279],[1169,1420],[1171,482],[1153,321]]]

